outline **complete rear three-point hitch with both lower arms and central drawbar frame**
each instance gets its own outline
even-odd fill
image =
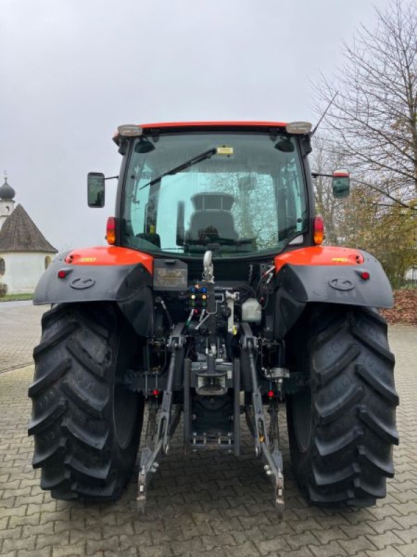
[[[173,411],[172,405],[172,380],[174,369],[177,363],[179,347],[183,343],[181,331],[183,324],[179,325],[170,338],[170,364],[167,370],[167,386],[163,394],[161,405],[157,400],[149,402],[149,414],[147,422],[147,432],[145,436],[144,448],[140,457],[140,471],[138,477],[138,510],[145,512],[147,501],[147,487],[152,478],[152,473],[156,472],[161,457],[166,454],[170,447],[170,439],[174,433],[181,411],[184,413],[184,453],[197,452],[197,450],[227,450],[228,453],[238,455],[240,453],[240,432],[239,432],[239,364],[238,360],[234,363],[234,397],[233,397],[233,427],[227,433],[219,432],[217,437],[204,432],[195,432],[190,400],[190,385],[193,383],[193,368],[190,362],[184,361],[184,398],[183,405],[176,405]],[[278,427],[278,408],[277,399],[272,398],[268,407],[270,415],[269,427],[263,411],[262,395],[256,377],[255,366],[255,347],[256,338],[252,335],[252,330],[248,324],[241,324],[240,345],[243,351],[247,351],[250,361],[250,379],[252,386],[252,397],[247,396],[245,400],[245,415],[247,425],[254,438],[255,454],[263,462],[263,469],[266,476],[271,480],[275,491],[275,507],[279,519],[284,517],[284,478],[282,473],[282,454],[279,450],[279,427]],[[252,398],[252,400],[251,400]]]

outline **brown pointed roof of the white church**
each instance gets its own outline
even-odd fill
[[[0,251],[47,251],[57,253],[22,205],[17,205],[0,229]]]

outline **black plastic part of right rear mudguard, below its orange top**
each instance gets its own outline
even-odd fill
[[[392,308],[393,292],[377,259],[361,251],[360,265],[291,265],[281,267],[275,278],[275,336],[284,338],[306,304],[345,304]],[[369,279],[361,278],[363,272]]]

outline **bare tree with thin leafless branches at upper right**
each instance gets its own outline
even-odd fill
[[[417,5],[393,0],[344,44],[345,63],[316,86],[325,117],[357,182],[407,207],[417,194]]]

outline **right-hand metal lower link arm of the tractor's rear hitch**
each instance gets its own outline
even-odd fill
[[[279,519],[284,518],[284,476],[282,473],[282,453],[279,450],[279,428],[277,400],[270,402],[270,427],[268,427],[263,413],[262,395],[259,390],[256,375],[255,347],[256,339],[252,335],[249,324],[241,323],[243,330],[241,345],[247,351],[250,363],[250,379],[252,383],[252,408],[245,402],[245,415],[247,425],[254,437],[255,454],[261,457],[263,469],[272,482],[275,490],[275,508]]]

